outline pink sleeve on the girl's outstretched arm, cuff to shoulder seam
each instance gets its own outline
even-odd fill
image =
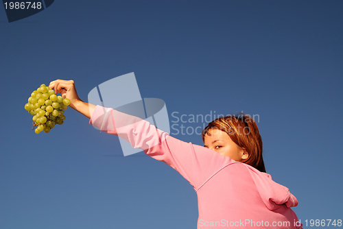
[[[112,108],[97,106],[89,123],[108,134],[125,139],[134,148],[143,149],[148,156],[165,162],[196,190],[217,172],[218,167],[230,163],[230,158],[200,145],[180,141],[158,130],[148,121]]]

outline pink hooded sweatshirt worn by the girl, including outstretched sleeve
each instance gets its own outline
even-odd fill
[[[185,143],[148,121],[97,106],[90,124],[176,169],[196,190],[197,228],[302,228],[287,187],[211,149]]]

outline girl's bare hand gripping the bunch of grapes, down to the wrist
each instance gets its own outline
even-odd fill
[[[71,108],[73,108],[74,104],[81,99],[78,97],[78,93],[76,93],[75,83],[73,80],[54,80],[50,82],[49,88],[54,89],[55,93],[60,93],[64,98],[68,98],[71,101]]]

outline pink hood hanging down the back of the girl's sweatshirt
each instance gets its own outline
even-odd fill
[[[270,174],[262,173],[250,166],[248,168],[252,180],[254,180],[255,185],[257,186],[259,195],[269,210],[280,208],[283,204],[288,208],[298,205],[298,200],[289,192],[289,189],[274,182]]]

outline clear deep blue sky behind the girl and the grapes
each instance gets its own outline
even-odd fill
[[[8,23],[0,7],[0,228],[196,228],[196,193],[163,162],[121,156],[71,108],[49,134],[31,130],[24,104],[40,84],[72,79],[86,101],[131,72],[170,121],[258,115],[265,167],[299,219],[342,219],[342,12],[331,0],[56,0]]]

